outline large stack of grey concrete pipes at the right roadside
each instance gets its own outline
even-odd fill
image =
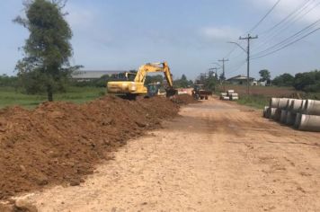
[[[299,130],[320,132],[320,101],[271,98],[263,117]]]

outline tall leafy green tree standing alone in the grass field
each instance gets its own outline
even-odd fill
[[[71,72],[79,66],[70,66],[72,31],[62,9],[66,1],[31,0],[24,2],[26,18],[18,16],[13,22],[21,24],[30,36],[22,47],[24,57],[16,70],[28,93],[48,94],[63,90]]]

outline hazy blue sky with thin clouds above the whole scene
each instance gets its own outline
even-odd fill
[[[259,57],[320,19],[320,0],[281,0],[251,31],[277,1],[68,0],[64,10],[74,34],[70,61],[85,70],[130,70],[165,60],[174,78],[184,74],[195,79],[226,57],[227,77],[246,75],[244,50],[227,42],[238,42],[245,49],[246,42],[239,37],[248,32],[258,35],[251,40],[251,56]],[[22,8],[22,0],[0,2],[0,75],[15,75],[14,66],[22,58],[19,48],[29,33],[12,22],[23,15]],[[297,8],[290,22],[270,30]],[[309,30],[319,26],[316,22]],[[251,60],[251,75],[259,78],[262,69],[270,70],[272,77],[319,69],[319,37],[316,31],[288,48]]]

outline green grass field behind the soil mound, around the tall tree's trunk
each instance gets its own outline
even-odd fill
[[[55,93],[54,101],[84,103],[92,101],[105,93],[105,88],[97,87],[69,87],[67,93]],[[7,106],[22,106],[35,108],[41,102],[47,101],[45,94],[28,95],[15,91],[12,87],[0,87],[0,108]]]

